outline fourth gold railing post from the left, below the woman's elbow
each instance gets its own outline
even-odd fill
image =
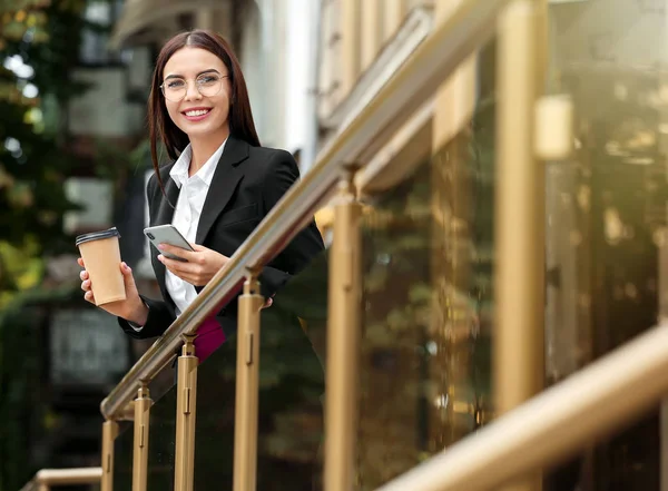
[[[239,296],[236,405],[234,423],[234,491],[254,491],[257,481],[257,399],[259,324],[264,303],[259,272],[248,271]]]

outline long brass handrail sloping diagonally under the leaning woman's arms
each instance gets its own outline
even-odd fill
[[[464,1],[446,22],[435,28],[367,107],[323,149],[313,169],[274,207],[226,267],[101,402],[105,418],[114,419],[122,411],[141,382],[153,380],[174,359],[181,336],[195,332],[210,312],[234,297],[247,267],[257,269],[271,261],[318,206],[331,198],[343,164],[364,165],[383,139],[401,127],[406,115],[432,97],[454,69],[488,41],[509,1]]]

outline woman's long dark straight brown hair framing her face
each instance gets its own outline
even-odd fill
[[[207,30],[191,30],[176,35],[165,43],[158,55],[156,69],[154,70],[150,96],[148,99],[148,129],[150,136],[150,155],[156,170],[156,177],[160,188],[163,179],[160,178],[160,166],[158,163],[158,138],[165,145],[167,155],[173,160],[184,151],[189,144],[188,136],[181,131],[171,120],[167,112],[165,98],[160,90],[165,65],[171,56],[184,47],[202,48],[216,55],[227,67],[229,81],[232,86],[230,107],[227,120],[229,121],[229,134],[236,138],[246,141],[248,145],[259,147],[259,138],[255,130],[253,112],[250,110],[250,100],[248,100],[248,89],[246,80],[242,72],[242,67],[229,43],[222,36]]]

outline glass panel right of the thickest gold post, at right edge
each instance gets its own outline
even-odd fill
[[[548,88],[570,95],[577,108],[572,159],[547,164],[551,383],[657,322],[668,190],[666,21],[664,0],[550,8]],[[548,488],[658,491],[662,439],[655,411],[558,469]]]

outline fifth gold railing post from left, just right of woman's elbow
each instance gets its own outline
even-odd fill
[[[334,207],[327,318],[325,491],[354,488],[361,324],[361,206],[353,185],[356,166],[340,181]]]

